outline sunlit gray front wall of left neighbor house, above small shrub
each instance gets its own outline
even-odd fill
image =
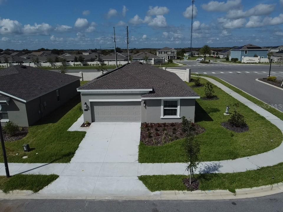
[[[20,102],[19,100],[10,97],[9,105],[7,105],[7,112],[11,122],[14,122],[21,127],[29,126],[26,105],[24,102]],[[4,125],[5,122],[1,122],[1,124]]]

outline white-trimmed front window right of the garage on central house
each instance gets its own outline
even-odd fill
[[[180,100],[162,100],[161,117],[180,117]]]

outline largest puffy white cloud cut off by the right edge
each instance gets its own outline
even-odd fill
[[[279,14],[277,17],[265,17],[262,19],[260,16],[251,16],[246,27],[263,27],[283,24],[283,14]]]

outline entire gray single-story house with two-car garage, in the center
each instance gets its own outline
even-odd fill
[[[79,87],[84,121],[194,122],[200,98],[175,73],[134,61]]]

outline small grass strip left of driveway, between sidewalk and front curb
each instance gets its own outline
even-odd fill
[[[14,175],[10,178],[0,176],[0,190],[5,193],[13,190],[38,192],[58,177],[58,175]]]

